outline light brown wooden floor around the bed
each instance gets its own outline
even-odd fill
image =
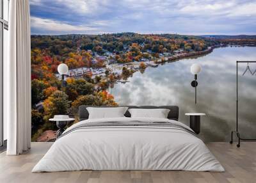
[[[207,147],[224,166],[225,172],[195,171],[65,171],[31,173],[31,169],[52,143],[32,143],[31,150],[18,156],[0,154],[0,182],[256,182],[256,142],[244,142],[241,148],[226,142]]]

